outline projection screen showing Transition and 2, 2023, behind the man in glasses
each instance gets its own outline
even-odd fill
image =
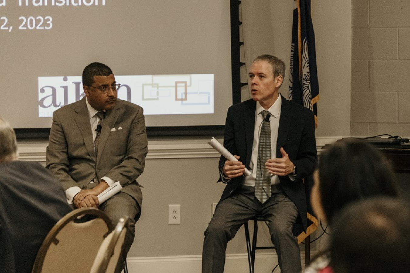
[[[47,131],[93,61],[151,128],[224,125],[232,105],[226,0],[0,0],[0,36],[0,116],[16,130]]]

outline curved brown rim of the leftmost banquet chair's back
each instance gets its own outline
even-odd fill
[[[82,207],[80,209],[75,209],[72,212],[69,212],[54,225],[54,227],[50,230],[50,232],[48,232],[46,238],[41,244],[39,252],[37,253],[36,260],[34,261],[34,265],[32,269],[33,273],[41,272],[43,268],[43,262],[44,262],[44,259],[46,259],[46,254],[47,254],[47,251],[50,245],[52,243],[55,243],[55,244],[58,243],[58,240],[55,237],[60,232],[60,230],[62,230],[71,221],[80,223],[81,220],[79,221],[78,219],[85,215],[97,216],[98,218],[103,219],[103,221],[105,222],[108,228],[108,232],[104,235],[104,237],[107,237],[107,235],[110,232],[112,232],[113,227],[112,227],[111,220],[109,219],[107,214],[102,212],[100,209],[92,208],[92,207]]]

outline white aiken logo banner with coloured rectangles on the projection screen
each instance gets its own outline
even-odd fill
[[[81,76],[39,77],[39,117],[84,98]],[[115,76],[118,98],[144,108],[146,115],[212,114],[214,75]]]

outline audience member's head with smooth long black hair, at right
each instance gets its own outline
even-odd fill
[[[342,139],[321,152],[314,173],[312,207],[331,224],[350,202],[371,196],[397,196],[392,168],[376,147],[360,139]]]

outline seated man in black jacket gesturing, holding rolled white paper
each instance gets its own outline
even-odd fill
[[[219,160],[219,181],[226,187],[205,231],[203,273],[223,272],[228,241],[258,214],[269,223],[281,272],[301,271],[292,228],[298,215],[303,227],[307,226],[303,178],[313,173],[317,163],[314,115],[279,94],[284,75],[282,60],[271,55],[257,57],[249,72],[252,99],[228,109],[223,145],[239,161],[223,156]],[[266,148],[259,147],[266,143],[260,140],[261,130],[264,138],[270,131],[267,160],[261,156]],[[251,175],[244,175],[245,168]]]

